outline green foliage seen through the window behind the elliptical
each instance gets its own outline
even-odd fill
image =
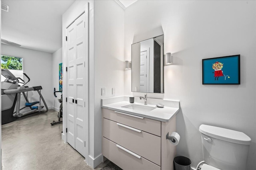
[[[22,58],[1,55],[1,68],[22,70]]]

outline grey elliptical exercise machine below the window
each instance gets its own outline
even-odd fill
[[[27,82],[25,82],[19,77],[15,77],[8,69],[1,69],[1,74],[5,77],[5,80],[1,82],[2,125],[15,121],[25,115],[48,111],[46,102],[41,94],[42,86],[25,86],[25,84],[27,84],[30,81],[30,78],[26,73],[23,74],[24,76],[26,76],[26,78],[28,78]],[[29,91],[37,91],[40,96],[40,101],[29,102],[27,95],[25,94],[25,92]],[[25,106],[22,108],[20,108],[21,93],[23,94],[24,99],[26,100]],[[43,101],[44,106],[41,106],[41,100]],[[36,104],[39,104],[39,106],[34,106]],[[16,111],[14,112],[15,106]],[[22,109],[27,107],[30,108],[29,111],[22,111]],[[42,109],[44,107],[45,109]]]

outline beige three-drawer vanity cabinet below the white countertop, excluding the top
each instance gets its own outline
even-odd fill
[[[176,131],[169,122],[102,108],[102,154],[124,170],[172,170],[176,147],[166,134]]]

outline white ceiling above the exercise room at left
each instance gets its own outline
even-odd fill
[[[62,14],[74,0],[2,0],[1,38],[23,48],[54,53],[62,47]]]

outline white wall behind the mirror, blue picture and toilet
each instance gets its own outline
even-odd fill
[[[203,160],[198,128],[204,123],[248,135],[247,170],[255,169],[255,9],[255,1],[143,0],[125,10],[125,60],[131,59],[134,35],[158,27],[164,31],[164,53],[173,56],[173,64],[164,66],[164,99],[180,101],[177,155],[190,158],[193,168]],[[202,59],[237,54],[240,85],[202,85]],[[130,74],[125,71],[126,96],[132,96]]]

